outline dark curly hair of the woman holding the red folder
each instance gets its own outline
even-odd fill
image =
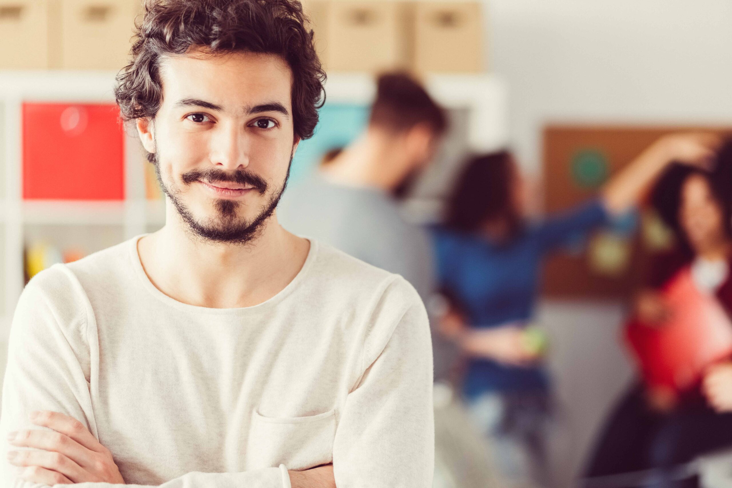
[[[725,224],[725,233],[732,238],[732,140],[728,140],[717,152],[712,171],[705,171],[689,165],[672,165],[658,179],[651,191],[651,206],[668,225],[679,244],[679,252],[685,259],[691,259],[692,249],[679,221],[681,190],[692,175],[701,175],[709,182],[714,199],[720,204]]]

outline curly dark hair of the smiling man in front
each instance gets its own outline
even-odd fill
[[[276,54],[288,63],[295,135],[312,137],[325,102],[326,75],[306,23],[297,0],[145,0],[132,61],[116,78],[122,119],[153,118],[159,110],[163,56],[181,56],[192,47],[214,55],[247,51]]]

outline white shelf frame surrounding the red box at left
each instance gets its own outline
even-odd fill
[[[143,153],[135,135],[125,144],[125,175],[122,201],[23,200],[22,134],[23,102],[113,103],[113,72],[23,71],[0,73],[2,132],[0,161],[3,165],[2,209],[2,290],[0,339],[6,339],[18,296],[23,290],[23,247],[26,235],[45,228],[59,234],[78,233],[81,228],[113,228],[112,236],[122,239],[146,231],[149,211],[163,206],[148,202],[145,195]],[[159,215],[160,211],[153,213]],[[157,218],[157,217],[156,217]],[[159,221],[159,219],[157,219]],[[94,230],[90,230],[94,232]]]

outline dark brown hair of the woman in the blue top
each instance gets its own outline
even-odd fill
[[[523,222],[516,208],[515,162],[508,151],[468,158],[447,203],[444,225],[475,233],[487,223],[501,222],[507,239],[516,236]]]

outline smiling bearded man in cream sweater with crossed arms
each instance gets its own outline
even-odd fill
[[[322,97],[304,23],[296,0],[146,3],[116,97],[166,223],[23,290],[1,486],[430,486],[419,296],[277,222]]]

